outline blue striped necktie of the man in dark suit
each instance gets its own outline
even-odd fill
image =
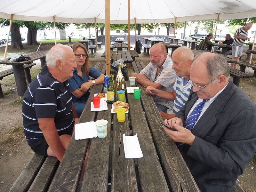
[[[209,100],[209,99],[208,99]],[[189,114],[189,116],[187,117],[185,123],[184,123],[184,128],[188,129],[189,131],[191,131],[198,119],[198,117],[200,116],[201,114],[201,111],[204,107],[204,103],[208,100],[203,100],[202,102],[198,103],[196,105],[196,107],[193,109],[193,111]],[[178,148],[179,149],[182,149],[183,148],[183,144],[184,143],[180,143],[178,142]]]

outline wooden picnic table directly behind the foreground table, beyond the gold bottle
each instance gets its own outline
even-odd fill
[[[101,55],[101,57],[105,56],[105,51]],[[132,63],[135,61],[135,57],[139,57],[138,53],[135,50],[129,50],[129,51],[110,51],[110,58],[116,60],[124,59],[124,63]]]

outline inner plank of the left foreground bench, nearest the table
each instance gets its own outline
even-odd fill
[[[35,180],[28,189],[28,192],[46,192],[52,182],[52,178],[59,165],[56,157],[48,156],[40,171],[37,173]]]

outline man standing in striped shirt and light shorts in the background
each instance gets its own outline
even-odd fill
[[[236,30],[232,44],[232,60],[239,61],[239,58],[242,56],[245,40],[250,41],[250,38],[247,37],[250,28],[252,28],[251,22]],[[231,63],[230,68],[237,69],[237,64]]]

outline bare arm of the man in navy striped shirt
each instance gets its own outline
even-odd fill
[[[62,146],[59,134],[55,127],[54,118],[38,118],[39,128],[42,130],[44,138],[61,162],[65,153],[65,148]]]

